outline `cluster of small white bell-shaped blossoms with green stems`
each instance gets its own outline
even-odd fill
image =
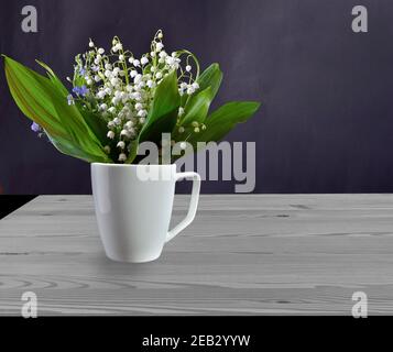
[[[67,97],[68,105],[78,103],[105,121],[108,129],[105,151],[119,162],[127,161],[131,143],[146,122],[155,89],[170,73],[177,72],[179,96],[190,96],[199,89],[195,56],[187,51],[168,54],[162,40],[163,33],[159,31],[150,52],[140,57],[124,50],[117,36],[109,53],[90,40],[89,51],[76,56],[74,77],[67,78],[74,87],[73,95]],[[183,114],[181,107],[179,119]],[[199,128],[196,122],[192,131],[197,133]],[[177,128],[178,133],[184,131],[183,127]]]

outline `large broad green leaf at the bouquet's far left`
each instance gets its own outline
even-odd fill
[[[54,74],[50,73],[52,78],[48,79],[7,56],[4,63],[6,77],[18,107],[45,130],[57,148],[89,162],[109,161],[78,109],[67,105],[67,91]]]

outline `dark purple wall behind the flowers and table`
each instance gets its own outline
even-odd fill
[[[369,33],[351,31],[351,9],[369,9]],[[20,29],[24,4],[39,33]],[[256,193],[393,191],[393,2],[389,0],[42,0],[0,4],[0,52],[61,77],[88,37],[113,35],[142,54],[157,29],[168,50],[219,62],[216,103],[261,100],[228,136],[256,142]],[[30,131],[0,74],[0,191],[90,193],[89,165],[58,154]],[[183,186],[182,186],[183,187]],[[184,188],[181,187],[181,190]],[[230,182],[205,193],[232,193]]]

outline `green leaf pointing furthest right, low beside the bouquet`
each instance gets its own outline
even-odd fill
[[[238,123],[245,122],[260,107],[256,101],[232,101],[214,111],[206,120],[206,130],[193,133],[188,140],[196,146],[197,142],[218,142]]]

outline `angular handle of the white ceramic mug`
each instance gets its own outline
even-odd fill
[[[166,234],[166,240],[165,242],[171,241],[176,234],[178,234],[181,231],[183,231],[186,227],[188,227],[196,215],[196,210],[198,207],[198,200],[199,200],[199,190],[200,190],[200,176],[197,173],[188,172],[188,173],[176,173],[175,175],[175,182],[182,179],[182,178],[193,178],[193,191],[192,191],[192,199],[189,202],[189,208],[187,216],[183,221],[181,221],[174,229],[172,229],[167,234]]]

